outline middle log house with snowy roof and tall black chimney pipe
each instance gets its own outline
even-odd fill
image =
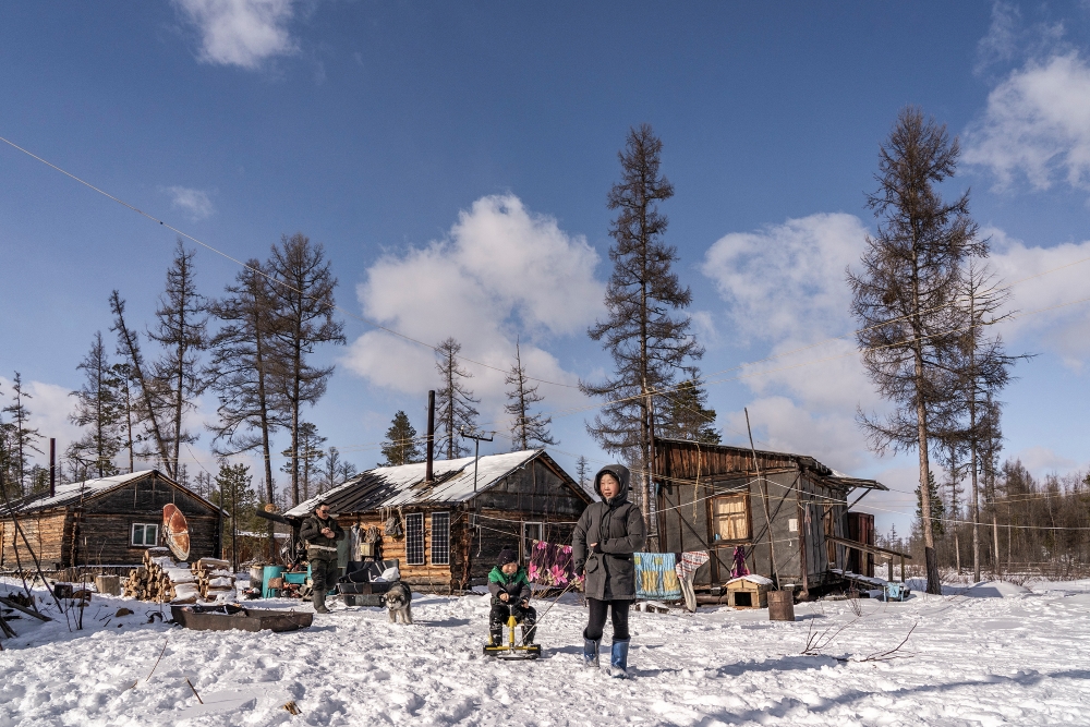
[[[485,583],[504,548],[525,561],[533,541],[570,543],[593,499],[545,450],[534,449],[439,460],[431,482],[424,462],[368,470],[284,518],[298,526],[328,502],[346,531],[378,529],[371,557],[397,559],[403,581],[451,592]],[[341,566],[350,569],[362,558],[351,553],[350,538],[344,543]]]

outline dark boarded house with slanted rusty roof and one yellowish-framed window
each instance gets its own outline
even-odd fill
[[[756,450],[754,460],[749,448],[677,439],[656,439],[654,478],[661,549],[707,550],[693,583],[713,593],[730,580],[736,548],[750,572],[779,585],[807,593],[836,584],[834,570],[849,570],[851,553],[837,541],[855,534],[849,497],[886,489],[813,457]]]

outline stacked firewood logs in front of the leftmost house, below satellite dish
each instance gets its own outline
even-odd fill
[[[138,601],[195,604],[197,599],[234,601],[234,577],[226,560],[202,558],[192,567],[178,564],[167,548],[148,548],[144,565],[129,571],[124,595]]]

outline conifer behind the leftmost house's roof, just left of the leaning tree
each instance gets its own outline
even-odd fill
[[[90,351],[76,368],[83,369],[85,381],[72,392],[76,403],[69,421],[86,427],[87,434],[72,443],[70,457],[88,462],[99,477],[118,474],[113,457],[122,447],[124,409],[119,392],[121,381],[110,365],[101,332],[95,334]]]

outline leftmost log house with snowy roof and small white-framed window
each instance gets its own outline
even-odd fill
[[[59,485],[12,502],[45,570],[130,568],[162,544],[162,508],[173,504],[189,523],[190,559],[220,555],[220,511],[158,470]],[[0,569],[34,568],[11,514],[0,513]]]

